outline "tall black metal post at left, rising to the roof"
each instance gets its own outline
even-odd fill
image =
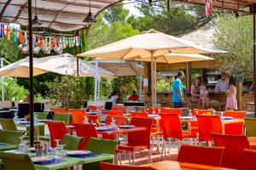
[[[34,93],[33,93],[33,49],[32,49],[32,0],[28,0],[28,45],[29,45],[29,92],[30,92],[30,145],[34,145]]]

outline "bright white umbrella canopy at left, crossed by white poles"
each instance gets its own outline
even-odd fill
[[[34,67],[45,71],[51,71],[62,75],[76,75],[77,74],[77,58],[72,54],[58,54],[49,57],[40,58],[34,62]],[[79,59],[79,76],[81,77],[95,77],[95,66]],[[98,68],[97,76],[100,77],[114,77],[110,71]]]

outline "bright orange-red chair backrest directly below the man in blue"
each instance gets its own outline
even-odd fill
[[[164,131],[164,138],[182,139],[182,127],[177,114],[162,113],[160,116]]]

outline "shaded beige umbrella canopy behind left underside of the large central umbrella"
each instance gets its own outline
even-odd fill
[[[96,60],[91,60],[89,63],[95,64]],[[103,69],[113,72],[115,77],[143,75],[143,66],[136,65],[125,60],[98,59],[98,65]]]

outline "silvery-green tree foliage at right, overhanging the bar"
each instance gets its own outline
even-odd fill
[[[217,55],[216,59],[226,69],[239,69],[245,80],[253,79],[253,17],[236,18],[233,15],[219,17],[214,44],[229,55]]]

